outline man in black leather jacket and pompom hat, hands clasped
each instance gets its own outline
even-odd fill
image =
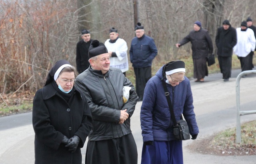
[[[135,88],[120,69],[110,67],[110,55],[103,43],[93,40],[88,57],[90,67],[76,78],[93,117],[85,164],[137,163],[137,146],[130,129],[137,103]],[[124,86],[130,87],[125,103]]]

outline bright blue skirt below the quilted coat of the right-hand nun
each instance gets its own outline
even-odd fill
[[[183,164],[182,141],[154,141],[143,144],[141,164]]]

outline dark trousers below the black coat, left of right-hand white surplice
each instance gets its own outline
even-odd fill
[[[231,77],[232,56],[218,56],[218,61],[223,79],[229,79]]]

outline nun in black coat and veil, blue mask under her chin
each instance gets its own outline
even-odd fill
[[[92,127],[88,102],[75,88],[75,68],[57,61],[33,99],[35,164],[81,164],[81,148]]]

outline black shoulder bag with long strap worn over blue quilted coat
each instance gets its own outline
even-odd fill
[[[170,99],[170,94],[167,90],[167,86],[165,81],[162,80],[162,84],[163,84],[163,89],[165,90],[165,96],[169,105],[169,109],[170,109],[170,114],[171,114],[171,118],[173,121],[173,135],[175,136],[176,140],[189,140],[190,139],[190,134],[189,134],[189,129],[188,129],[188,125],[187,122],[185,120],[183,120],[182,115],[181,115],[181,119],[176,121],[174,112],[173,112],[173,107],[172,107],[172,102]],[[174,94],[174,92],[173,92]],[[174,97],[174,95],[172,96],[172,98]]]

